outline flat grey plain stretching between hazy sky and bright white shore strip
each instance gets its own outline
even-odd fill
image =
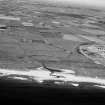
[[[84,43],[105,44],[105,11],[40,2],[0,1],[0,67],[72,69],[105,77],[105,67],[77,52]]]

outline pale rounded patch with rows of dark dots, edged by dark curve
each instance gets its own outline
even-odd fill
[[[81,54],[93,60],[95,63],[101,64],[105,61],[105,45],[92,44],[82,45],[79,47]]]

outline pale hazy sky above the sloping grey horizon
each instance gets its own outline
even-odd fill
[[[33,0],[34,1],[34,0]],[[82,5],[93,8],[104,8],[105,9],[105,0],[41,0],[41,1],[50,1],[54,3],[63,3],[63,4],[74,4]]]

